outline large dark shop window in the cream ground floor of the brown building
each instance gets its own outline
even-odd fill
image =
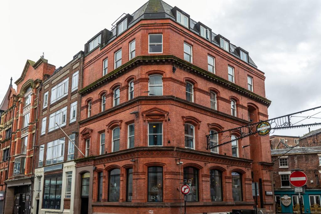
[[[45,177],[42,208],[60,209],[62,175]]]

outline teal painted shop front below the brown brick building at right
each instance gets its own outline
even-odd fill
[[[289,198],[285,200],[284,195],[288,195]],[[306,190],[304,194],[301,194],[301,198],[303,197],[304,213],[321,214],[320,196],[321,190]],[[285,206],[282,200],[287,204],[289,199],[291,199],[291,203],[289,206]],[[299,194],[294,193],[293,189],[275,190],[274,200],[276,213],[299,213]]]

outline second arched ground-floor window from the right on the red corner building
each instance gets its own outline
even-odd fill
[[[222,173],[218,170],[210,170],[211,200],[222,201]]]

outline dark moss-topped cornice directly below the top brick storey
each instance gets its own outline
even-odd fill
[[[79,93],[84,95],[97,88],[107,84],[108,82],[118,78],[120,75],[131,71],[133,68],[143,65],[143,64],[173,64],[180,69],[183,69],[187,72],[193,73],[197,76],[200,76],[204,79],[209,81],[213,81],[216,84],[219,84],[223,87],[228,88],[229,90],[235,91],[243,96],[249,97],[251,99],[257,100],[258,102],[264,104],[265,106],[270,106],[271,101],[259,96],[252,91],[249,91],[245,88],[242,88],[239,85],[236,85],[228,80],[225,80],[213,73],[205,71],[204,69],[197,67],[183,59],[180,59],[173,55],[160,55],[160,56],[136,56],[132,60],[128,61],[127,63],[123,64],[119,68],[115,69],[111,73],[101,77],[100,79],[94,81],[90,85],[84,87],[83,89],[79,90]]]

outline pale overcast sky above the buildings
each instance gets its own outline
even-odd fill
[[[27,59],[37,61],[45,52],[48,63],[64,66],[96,33],[110,30],[122,13],[132,14],[145,2],[1,1],[0,101],[10,77],[20,77]],[[321,1],[165,2],[249,52],[265,72],[266,96],[272,100],[269,118],[321,106]],[[274,134],[301,136],[307,131]]]

